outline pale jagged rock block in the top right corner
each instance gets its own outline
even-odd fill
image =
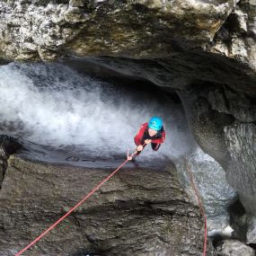
[[[222,52],[226,57],[238,58],[255,70],[256,3],[239,1],[233,12],[216,33],[211,52]]]

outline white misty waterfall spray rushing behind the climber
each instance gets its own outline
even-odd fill
[[[141,124],[160,116],[166,141],[158,152],[146,146],[141,155],[177,158],[190,149],[181,103],[157,88],[116,86],[62,64],[0,66],[0,77],[2,134],[112,157],[133,150]]]

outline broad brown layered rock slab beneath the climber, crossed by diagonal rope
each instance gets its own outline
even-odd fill
[[[20,251],[110,174],[16,154],[8,162],[0,194],[3,256]],[[124,168],[27,255],[199,255],[199,209],[172,172]]]

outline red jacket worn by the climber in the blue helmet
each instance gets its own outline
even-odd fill
[[[147,133],[148,123],[143,124],[138,132],[136,137],[134,137],[134,142],[137,146],[143,145],[146,138],[151,139],[152,143],[161,144],[165,140],[165,131],[163,128],[157,132],[154,137],[149,137]]]

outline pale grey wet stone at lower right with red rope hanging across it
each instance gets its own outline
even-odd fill
[[[181,184],[195,205],[199,205],[196,192],[190,181],[199,190],[205,213],[207,215],[208,234],[221,232],[230,223],[228,207],[236,198],[234,189],[225,181],[225,171],[212,157],[199,147],[185,157],[174,161]]]

